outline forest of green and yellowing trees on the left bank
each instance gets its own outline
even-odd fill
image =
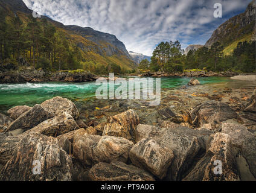
[[[10,61],[16,65],[20,57],[34,69],[62,71],[84,69],[94,74],[126,73],[115,63],[107,66],[86,59],[83,51],[66,38],[65,32],[54,27],[45,17],[22,19],[0,13],[0,63]]]

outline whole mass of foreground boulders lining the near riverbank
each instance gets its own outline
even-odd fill
[[[13,107],[0,115],[0,180],[256,180],[256,90],[245,103],[165,106],[152,125],[133,109],[88,125],[60,96]]]

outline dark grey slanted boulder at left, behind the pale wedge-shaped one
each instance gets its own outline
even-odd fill
[[[53,118],[53,116],[53,113],[49,112],[39,104],[36,104],[32,109],[23,113],[18,119],[13,121],[5,131],[12,131],[17,128],[29,130],[30,128],[38,125],[40,122]]]

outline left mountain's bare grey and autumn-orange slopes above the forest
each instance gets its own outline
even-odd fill
[[[33,13],[22,0],[0,0],[0,11],[5,13],[7,17],[18,15],[24,23],[27,23],[28,15]],[[89,27],[63,25],[46,16],[41,16],[37,20],[43,18],[53,24],[57,31],[62,31],[71,44],[77,45],[82,50],[83,60],[101,63],[105,66],[115,63],[122,68],[135,68],[124,43],[114,35],[96,31]]]

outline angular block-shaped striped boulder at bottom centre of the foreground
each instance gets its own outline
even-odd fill
[[[159,179],[165,177],[173,160],[173,151],[161,147],[154,139],[142,139],[130,150],[133,165],[152,172]]]

